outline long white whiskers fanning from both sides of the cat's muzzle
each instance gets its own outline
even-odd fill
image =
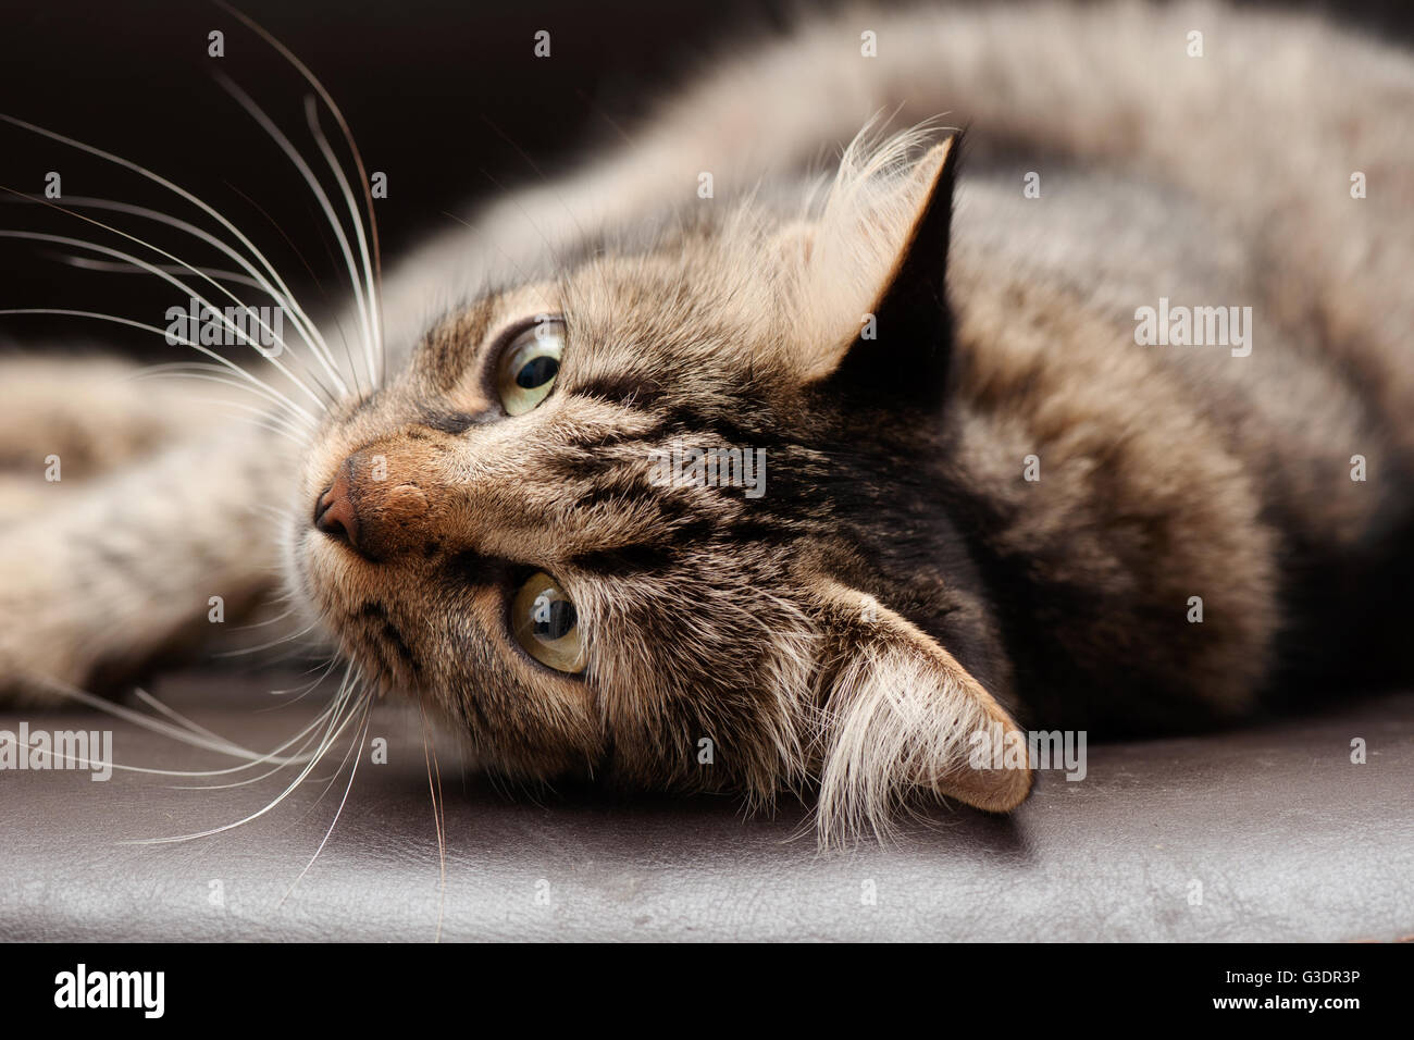
[[[106,314],[96,310],[81,310],[81,308],[59,308],[59,307],[31,307],[31,308],[4,308],[0,310],[3,316],[24,316],[24,314],[47,314],[47,316],[61,316],[61,317],[81,317],[95,321],[112,323],[129,328],[136,328],[144,333],[153,333],[164,335],[168,342],[181,344],[189,347],[199,352],[206,361],[182,362],[178,365],[154,365],[144,369],[136,378],[184,378],[195,379],[209,383],[216,383],[225,388],[240,389],[245,393],[253,395],[252,402],[243,400],[228,400],[221,399],[219,403],[233,408],[238,412],[243,412],[238,417],[252,422],[263,430],[274,434],[287,437],[288,440],[305,446],[308,444],[312,433],[318,429],[324,419],[324,415],[329,408],[339,399],[349,395],[349,383],[356,393],[363,393],[362,372],[366,371],[368,379],[372,388],[378,388],[383,383],[386,378],[386,351],[385,351],[385,333],[383,333],[383,304],[382,304],[382,260],[379,253],[379,238],[378,225],[373,214],[373,198],[370,181],[368,171],[363,166],[362,156],[354,141],[354,136],[348,127],[348,123],[334,103],[328,91],[324,85],[314,76],[314,74],[300,62],[279,40],[269,34],[264,28],[256,24],[253,20],[233,10],[229,4],[222,0],[215,0],[219,7],[226,10],[232,17],[238,18],[240,23],[247,25],[252,31],[259,34],[270,47],[273,47],[286,61],[288,61],[294,69],[311,85],[317,98],[324,103],[324,106],[332,115],[335,123],[338,125],[342,139],[346,143],[348,153],[341,150],[339,154],[352,156],[354,167],[359,185],[362,188],[363,197],[363,212],[361,212],[359,200],[355,192],[352,177],[346,174],[344,164],[341,164],[339,154],[331,146],[329,139],[325,136],[321,127],[321,113],[318,103],[314,96],[304,99],[304,115],[308,130],[314,139],[315,146],[320,150],[324,161],[328,166],[328,174],[334,178],[337,184],[338,198],[331,198],[332,191],[325,191],[324,184],[310,163],[300,154],[298,149],[291,143],[280,127],[260,109],[259,105],[245,93],[235,82],[225,76],[218,76],[222,86],[236,99],[238,103],[256,120],[256,123],[271,137],[271,140],[280,147],[280,150],[290,158],[296,170],[304,180],[308,190],[312,192],[315,201],[320,205],[324,216],[327,218],[334,236],[338,242],[338,249],[342,253],[344,267],[349,277],[349,287],[354,296],[354,321],[356,321],[358,328],[351,328],[351,338],[362,345],[361,362],[355,362],[354,352],[349,352],[349,340],[344,340],[345,352],[348,352],[346,362],[344,359],[335,358],[334,349],[331,349],[328,340],[320,330],[320,327],[310,318],[305,308],[296,299],[296,294],[281,277],[279,269],[274,263],[256,246],[255,241],[240,231],[240,228],[229,219],[225,214],[218,211],[215,207],[195,195],[194,192],[180,187],[174,181],[140,166],[129,158],[123,158],[115,153],[106,151],[103,149],[86,144],[72,137],[66,137],[61,133],[47,130],[41,126],[35,126],[23,119],[0,113],[0,120],[8,123],[10,126],[27,130],[30,133],[38,134],[48,140],[57,141],[66,147],[83,151],[89,156],[95,156],[105,163],[117,166],[123,170],[132,171],[141,177],[143,180],[158,185],[165,192],[175,195],[182,202],[194,207],[202,216],[192,216],[192,219],[182,219],[178,215],[167,214],[160,209],[153,209],[132,202],[103,200],[103,198],[65,198],[64,205],[49,202],[48,200],[34,198],[24,195],[23,192],[6,188],[4,191],[18,197],[18,200],[31,204],[44,204],[52,209],[64,212],[75,219],[85,221],[92,228],[96,228],[107,235],[115,235],[123,239],[132,246],[134,252],[124,252],[123,248],[113,248],[105,245],[103,242],[85,241],[81,238],[64,236],[64,235],[49,235],[40,232],[25,232],[25,231],[0,231],[0,238],[25,239],[31,242],[42,242],[51,245],[65,246],[68,249],[79,250],[79,256],[64,255],[59,259],[65,263],[76,266],[79,269],[107,272],[107,273],[143,273],[151,277],[157,277],[165,284],[170,284],[184,293],[184,296],[191,297],[195,303],[202,304],[211,314],[211,320],[223,330],[228,330],[233,341],[240,345],[256,347],[262,358],[270,362],[276,371],[280,372],[281,378],[274,378],[269,371],[262,371],[262,375],[270,378],[262,378],[256,372],[252,372],[252,364],[238,361],[235,358],[223,357],[221,352],[209,349],[206,345],[199,342],[205,337],[198,337],[195,331],[189,335],[175,335],[170,330],[160,328],[154,324],[139,321],[134,318],[127,318],[116,314]],[[342,201],[344,215],[352,222],[352,228],[346,228],[342,224],[339,215],[338,204]],[[175,207],[180,209],[180,207]],[[259,207],[257,207],[259,208]],[[110,214],[122,214],[124,218],[137,218],[140,221],[151,221],[174,232],[181,232],[181,235],[194,239],[209,249],[216,250],[225,260],[216,260],[205,252],[201,253],[202,262],[188,262],[181,256],[163,249],[151,241],[139,238],[137,235],[124,231],[122,226],[105,222],[102,219],[95,219],[78,209],[85,211],[106,211]],[[263,211],[262,211],[263,212]],[[188,212],[187,216],[191,216]],[[366,216],[366,222],[365,222]],[[116,218],[115,218],[116,219]],[[195,222],[194,222],[195,221]],[[117,221],[119,224],[130,224],[130,221]],[[201,226],[206,225],[206,226]],[[215,233],[214,233],[215,232]],[[281,229],[281,233],[283,229]],[[168,238],[175,238],[168,235]],[[288,236],[286,236],[288,242]],[[182,239],[185,242],[185,239]],[[122,245],[122,243],[119,243]],[[293,248],[293,242],[290,242]],[[181,252],[188,252],[188,245],[174,246]],[[296,250],[298,252],[298,250]],[[98,255],[99,259],[88,253]],[[195,258],[192,258],[195,260]],[[300,256],[303,262],[303,255]],[[229,260],[229,263],[228,263]],[[308,266],[308,265],[305,265]],[[311,270],[312,276],[312,270]],[[342,279],[342,275],[341,275]],[[315,279],[317,282],[317,279]],[[195,291],[195,287],[201,287],[204,291]],[[239,293],[235,290],[240,290]],[[249,294],[246,290],[259,293],[269,297],[284,316],[288,317],[290,325],[293,328],[291,342],[298,347],[298,349],[284,349],[290,344],[281,338],[270,323],[266,321],[263,316],[252,314],[253,324],[245,323],[245,328],[239,327],[232,321],[229,311],[222,311],[215,307],[208,299],[230,300],[238,307],[246,308],[246,304],[240,299],[243,294]],[[204,294],[205,293],[205,294]],[[194,304],[195,306],[195,304]],[[250,308],[246,308],[250,311]],[[338,316],[334,317],[338,321]],[[250,331],[255,328],[262,330],[262,340],[270,338],[273,342],[280,345],[279,352],[271,352],[260,349],[256,341],[252,338]],[[250,331],[247,331],[250,330]],[[341,330],[342,331],[342,330]],[[226,338],[226,337],[222,337]],[[226,340],[230,342],[232,340]],[[280,355],[284,359],[281,361]],[[253,359],[250,359],[253,361]],[[287,383],[284,382],[287,381]],[[286,392],[288,391],[288,393]],[[305,398],[303,400],[300,398]],[[288,614],[294,613],[291,607],[280,618],[270,620],[270,624],[283,620]],[[293,625],[291,625],[293,627]],[[281,638],[252,647],[243,651],[235,651],[235,654],[264,651],[274,647],[280,647],[286,642],[294,642],[296,640],[307,635],[315,624],[311,624],[301,631],[284,635]],[[221,654],[218,657],[228,657],[230,654]],[[338,659],[331,658],[327,665],[322,666],[317,678],[307,683],[304,689],[298,693],[296,699],[301,699],[310,695],[312,691],[324,685],[325,679],[338,666]],[[311,669],[314,671],[314,669]],[[86,705],[95,710],[102,710],[113,717],[122,719],[127,723],[139,726],[150,733],[158,734],[175,740],[178,743],[214,751],[228,758],[236,760],[232,765],[225,765],[222,768],[214,770],[158,770],[146,768],[139,765],[119,765],[113,763],[113,768],[120,768],[133,773],[148,773],[156,775],[173,777],[173,778],[191,778],[191,780],[221,780],[230,778],[230,782],[219,784],[202,784],[198,785],[199,790],[223,790],[232,787],[245,787],[249,784],[259,782],[271,775],[281,774],[293,770],[293,778],[271,798],[266,805],[256,812],[245,815],[242,819],[212,826],[195,833],[165,836],[165,838],[147,838],[137,839],[137,845],[161,845],[173,842],[195,840],[201,838],[209,838],[219,835],[226,831],[243,826],[260,816],[267,815],[281,805],[296,790],[300,788],[317,770],[325,758],[329,757],[331,750],[338,747],[341,741],[351,736],[354,740],[339,767],[334,771],[329,780],[329,787],[325,788],[325,794],[332,788],[334,782],[342,775],[349,757],[354,757],[352,768],[349,768],[348,784],[344,788],[344,795],[339,801],[338,811],[329,824],[322,840],[314,852],[314,856],[305,865],[304,870],[300,872],[294,883],[290,886],[290,891],[294,890],[296,884],[308,873],[314,862],[318,859],[320,853],[328,843],[338,819],[342,815],[344,807],[349,798],[349,792],[354,785],[354,780],[358,773],[358,763],[362,757],[362,750],[368,739],[369,719],[372,712],[372,700],[375,698],[373,688],[363,681],[363,675],[355,668],[352,662],[346,664],[342,678],[338,681],[338,689],[334,692],[332,698],[327,705],[304,724],[298,733],[293,734],[276,749],[270,751],[257,751],[243,747],[232,740],[222,737],[219,733],[206,729],[195,723],[194,720],[185,717],[175,709],[164,705],[157,698],[153,698],[146,691],[137,691],[137,698],[140,706],[146,710],[133,710],[122,705],[96,698],[86,691],[78,688],[66,686],[64,683],[38,679],[41,685],[48,686],[54,692],[75,700],[78,703]],[[423,717],[424,732],[427,727],[426,716]],[[445,879],[447,879],[447,863],[445,863],[445,812],[444,802],[441,797],[441,777],[440,770],[436,763],[436,750],[424,741],[424,753],[428,761],[428,785],[433,791],[433,807],[434,819],[437,824],[437,840],[438,853],[441,862],[441,896],[443,903],[445,900]],[[252,775],[253,774],[253,775]],[[320,795],[320,799],[324,794]],[[318,805],[318,799],[315,801]],[[312,808],[312,807],[311,807]],[[284,900],[281,900],[283,903]],[[443,906],[438,907],[438,923],[437,934],[441,934],[443,923]]]

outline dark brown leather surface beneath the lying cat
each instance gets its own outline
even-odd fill
[[[222,736],[267,749],[311,710],[269,710],[270,685],[181,676],[158,692]],[[89,712],[11,710],[0,729],[21,719],[110,727],[124,764],[230,764]],[[346,773],[320,799],[332,763],[317,771],[325,782],[255,824],[175,845],[122,842],[239,819],[280,785],[191,791],[132,773],[109,782],[0,773],[0,937],[431,940],[440,870],[416,713],[379,709],[372,736],[389,740],[389,763],[365,751],[342,818],[298,884],[344,794]],[[1363,765],[1350,763],[1352,737],[1367,743]],[[1042,774],[1011,818],[942,811],[892,848],[833,856],[817,855],[809,833],[790,840],[799,807],[742,819],[720,798],[509,799],[464,781],[450,744],[440,760],[450,940],[1414,934],[1414,695],[1222,736],[1092,743],[1086,780]],[[211,901],[214,880],[223,906]]]

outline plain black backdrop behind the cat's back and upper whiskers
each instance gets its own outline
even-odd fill
[[[365,161],[389,174],[376,204],[385,258],[450,226],[447,212],[498,187],[561,168],[597,141],[621,140],[663,86],[713,54],[781,31],[812,7],[782,0],[243,0],[344,109]],[[1267,4],[1273,6],[1273,4]],[[1287,7],[1414,42],[1407,0]],[[206,33],[226,57],[206,57]],[[551,58],[532,54],[551,33]],[[304,132],[304,83],[259,37],[202,0],[0,0],[0,112],[116,151],[177,181],[253,238],[318,308],[342,284],[332,238],[294,168],[212,79],[219,68],[276,119],[318,168]],[[334,132],[332,123],[325,130]],[[0,185],[38,194],[58,170],[64,192],[191,209],[133,174],[24,130],[0,126]],[[147,233],[153,225],[127,222]],[[0,228],[88,236],[79,221],[0,204]],[[288,239],[288,242],[287,242]],[[112,238],[102,238],[120,245]],[[181,239],[160,238],[175,246]],[[298,250],[291,245],[297,243]],[[106,310],[153,324],[174,290],[137,275],[57,263],[57,248],[0,239],[0,307]],[[175,249],[174,249],[175,252]],[[184,258],[206,259],[189,242]],[[307,265],[307,266],[305,266]],[[160,357],[161,340],[75,318],[3,317],[0,344],[103,341]]]

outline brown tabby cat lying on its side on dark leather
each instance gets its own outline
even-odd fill
[[[291,351],[226,351],[255,430],[7,362],[0,683],[127,679],[279,572],[486,770],[797,790],[833,840],[1017,807],[980,732],[1400,672],[1408,54],[1217,4],[846,11],[629,136],[356,270],[355,361],[276,291]],[[38,501],[51,453],[102,473]]]

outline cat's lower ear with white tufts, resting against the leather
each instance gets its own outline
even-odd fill
[[[919,794],[991,812],[1027,798],[1025,734],[952,654],[833,580],[822,601],[836,648],[820,734],[822,840],[885,832]]]

